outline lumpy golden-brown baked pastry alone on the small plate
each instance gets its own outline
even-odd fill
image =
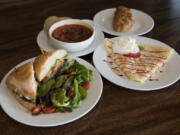
[[[118,32],[127,32],[134,26],[134,18],[130,8],[119,6],[113,18],[113,28]]]

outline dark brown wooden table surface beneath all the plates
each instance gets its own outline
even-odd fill
[[[98,11],[119,5],[152,16],[155,27],[144,36],[167,43],[180,53],[179,0],[17,0],[0,3],[0,80],[16,64],[41,53],[36,37],[48,16],[93,19]],[[81,58],[92,63],[92,54]],[[129,90],[105,78],[103,84],[98,104],[84,117],[62,126],[40,128],[23,125],[0,108],[0,134],[180,134],[180,81],[152,92]]]

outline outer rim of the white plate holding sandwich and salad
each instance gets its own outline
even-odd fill
[[[24,60],[22,62],[20,62],[19,64],[15,65],[14,67],[19,67],[27,62],[30,62],[30,61],[33,61],[35,59],[35,57],[33,58],[29,58],[27,60]],[[96,72],[95,74],[97,75],[98,77],[98,80],[100,81],[100,83],[98,83],[99,87],[100,87],[100,90],[99,90],[99,95],[97,96],[96,100],[94,100],[93,104],[90,105],[89,108],[87,108],[85,111],[83,111],[83,113],[81,115],[78,115],[77,117],[74,117],[74,118],[70,118],[69,120],[65,121],[65,122],[55,122],[55,123],[51,123],[51,124],[35,124],[35,123],[31,123],[31,122],[25,122],[23,121],[22,119],[19,119],[19,118],[16,118],[14,116],[11,116],[11,114],[9,112],[6,111],[6,107],[4,106],[4,104],[2,103],[2,99],[1,99],[1,96],[0,95],[0,105],[1,105],[1,108],[2,110],[4,111],[4,113],[6,115],[8,115],[10,118],[12,118],[13,120],[21,123],[21,124],[24,124],[24,125],[28,125],[28,126],[33,126],[33,127],[55,127],[55,126],[60,126],[60,125],[64,125],[64,124],[67,124],[67,123],[71,123],[73,121],[76,121],[80,118],[82,118],[83,116],[85,116],[87,113],[89,113],[96,105],[97,103],[99,102],[101,96],[102,96],[102,93],[103,93],[103,81],[102,81],[102,77],[101,75],[99,74],[99,72],[97,71],[97,69],[91,64],[89,63],[88,61],[82,59],[82,58],[79,58],[79,57],[68,57],[68,59],[76,59],[77,61],[79,61],[80,63],[81,62],[85,62],[86,64],[88,64],[88,66],[90,66],[91,68],[93,68],[93,70]],[[6,75],[3,77],[1,83],[0,83],[0,93],[1,93],[1,89],[3,88],[3,85],[6,86],[5,84],[5,80],[7,78],[7,76],[12,72],[12,70],[14,69],[11,68],[7,73]],[[6,87],[7,88],[7,87]],[[8,89],[8,88],[7,88]],[[8,89],[9,90],[9,89]],[[13,95],[12,95],[13,96]],[[15,100],[16,101],[16,100]],[[18,102],[18,101],[17,101]],[[18,103],[19,104],[19,103]],[[6,105],[6,104],[5,104]],[[22,106],[23,107],[23,106]],[[80,107],[81,108],[81,107]],[[72,112],[73,113],[73,112]],[[53,115],[53,114],[52,114]]]

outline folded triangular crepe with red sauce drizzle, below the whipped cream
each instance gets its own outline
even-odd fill
[[[158,73],[172,53],[172,49],[163,46],[140,45],[143,50],[136,54],[119,54],[113,51],[114,40],[105,39],[104,45],[108,57],[112,60],[107,62],[117,75],[121,71],[136,82],[144,82],[151,79],[153,74]],[[113,64],[114,63],[114,64]]]

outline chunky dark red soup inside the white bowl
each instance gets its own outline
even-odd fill
[[[92,34],[93,31],[84,25],[66,24],[57,27],[52,32],[52,37],[63,42],[75,43],[87,40]]]

